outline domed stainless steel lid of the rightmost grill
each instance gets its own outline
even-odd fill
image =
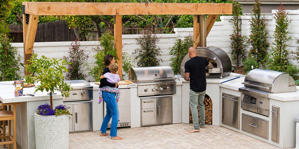
[[[288,73],[265,69],[251,70],[242,84],[270,93],[296,91],[295,80]]]

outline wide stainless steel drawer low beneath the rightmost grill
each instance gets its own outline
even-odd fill
[[[268,139],[269,121],[242,113],[242,130]]]

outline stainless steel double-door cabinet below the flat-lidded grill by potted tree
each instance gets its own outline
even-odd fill
[[[69,120],[69,132],[92,131],[92,102],[65,103],[73,116]]]

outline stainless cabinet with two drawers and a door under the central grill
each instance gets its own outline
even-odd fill
[[[141,99],[141,126],[172,123],[172,97]]]

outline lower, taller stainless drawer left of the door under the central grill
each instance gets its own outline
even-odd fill
[[[144,125],[155,125],[155,108],[142,109],[141,111],[141,126]]]

